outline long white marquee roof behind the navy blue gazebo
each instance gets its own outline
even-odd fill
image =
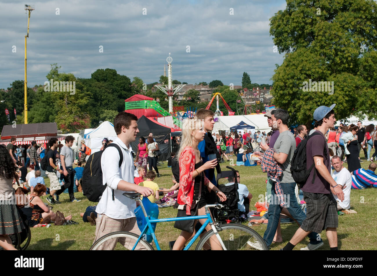
[[[234,116],[219,116],[219,121],[213,126],[213,132],[218,132],[219,130],[230,131],[230,128],[244,121],[246,124],[255,127],[255,131],[270,131],[271,128],[268,127],[267,117],[264,114],[253,114],[253,115],[234,115]]]

